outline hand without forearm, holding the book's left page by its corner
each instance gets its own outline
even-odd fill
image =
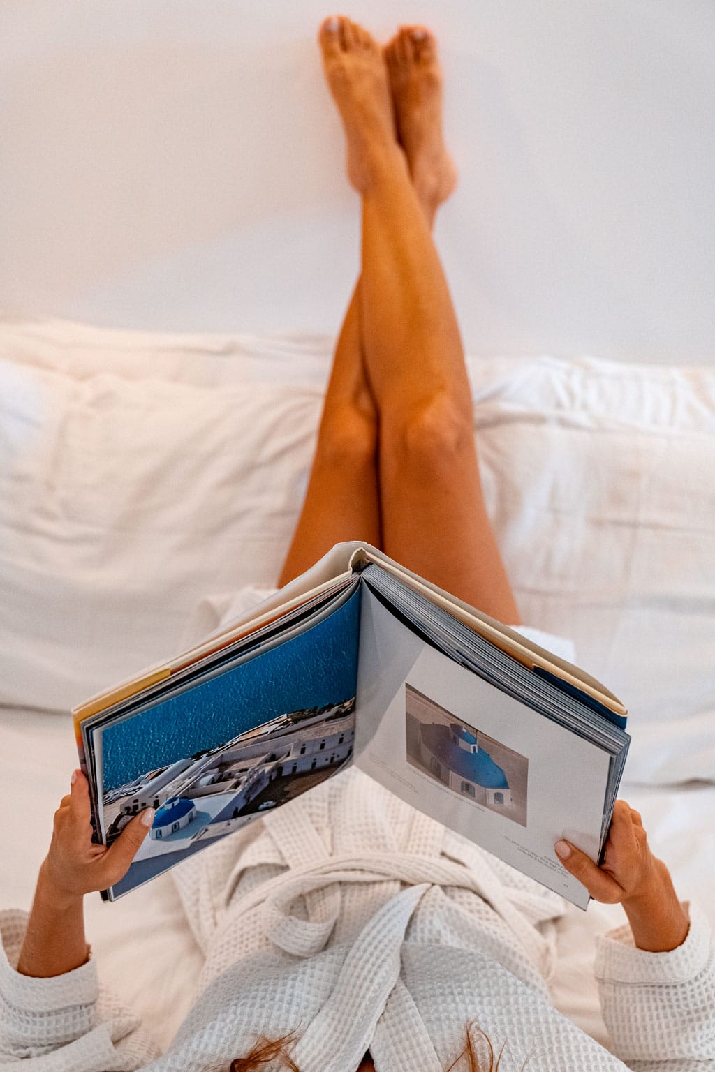
[[[87,778],[75,771],[70,793],[55,813],[53,840],[41,872],[43,883],[60,900],[119,882],[147,836],[154,813],[147,808],[135,816],[110,848],[92,844],[90,814]]]

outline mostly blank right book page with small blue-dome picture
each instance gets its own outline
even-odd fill
[[[362,593],[355,763],[433,819],[585,908],[558,862],[597,859],[610,759],[426,644]]]

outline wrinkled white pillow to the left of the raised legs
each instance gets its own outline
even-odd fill
[[[264,355],[0,324],[0,702],[66,711],[175,654],[206,595],[275,582],[321,387],[272,382],[300,344]]]

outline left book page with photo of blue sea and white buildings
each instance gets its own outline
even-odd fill
[[[110,844],[147,807],[117,899],[352,762],[361,590],[249,661],[92,731]]]

